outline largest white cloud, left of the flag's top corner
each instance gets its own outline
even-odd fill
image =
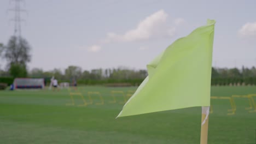
[[[176,32],[176,28],[167,26],[167,17],[168,15],[164,10],[159,10],[140,21],[135,29],[131,29],[124,34],[108,33],[107,38],[102,42],[131,42],[158,37],[172,37]],[[182,19],[179,19],[179,22],[182,22]]]

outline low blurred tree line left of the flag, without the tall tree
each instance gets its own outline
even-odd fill
[[[33,68],[21,77],[44,78],[47,85],[52,76],[59,82],[72,82],[76,80],[78,84],[84,85],[100,85],[104,83],[131,83],[131,85],[139,85],[147,76],[147,70],[134,70],[125,67],[82,70],[78,66],[70,65],[64,71],[56,68],[50,71]],[[0,81],[1,77],[4,79],[4,77],[11,78],[13,76],[8,71],[0,70]]]

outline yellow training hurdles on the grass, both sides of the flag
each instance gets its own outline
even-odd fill
[[[112,97],[112,100],[107,101],[107,103],[109,104],[125,104],[126,101],[132,96],[132,94],[135,91],[127,91],[126,94],[124,91],[110,91],[110,96]],[[121,96],[123,98],[123,100],[118,101],[117,97]],[[87,95],[84,97],[83,93],[80,91],[75,91],[72,92],[69,89],[69,96],[71,98],[71,103],[68,103],[66,105],[75,105],[75,101],[74,101],[74,97],[78,96],[83,100],[83,104],[79,104],[78,106],[87,106],[87,105],[103,105],[106,102],[104,101],[102,95],[100,92],[87,92]],[[95,102],[94,99],[92,99],[92,97],[97,97],[97,101]],[[248,99],[249,102],[249,107],[246,107],[245,109],[248,110],[250,113],[252,112],[256,112],[256,104],[254,103],[254,99],[253,97],[256,97],[256,94],[248,94],[248,95],[232,95],[231,97],[211,97],[211,99],[218,99],[218,100],[229,100],[230,105],[231,105],[231,109],[229,109],[228,111],[230,113],[228,113],[227,115],[235,115],[236,112],[236,103],[235,103],[235,99],[237,98],[246,98]],[[120,99],[119,99],[120,100]],[[211,105],[210,107],[210,113],[213,113],[213,106]]]

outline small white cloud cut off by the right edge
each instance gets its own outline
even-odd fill
[[[256,36],[256,22],[247,22],[239,29],[238,34],[242,37]]]

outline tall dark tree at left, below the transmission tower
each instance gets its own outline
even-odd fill
[[[31,47],[27,40],[12,36],[6,46],[2,46],[3,57],[7,61],[9,73],[14,77],[26,77],[26,64],[31,61]]]

